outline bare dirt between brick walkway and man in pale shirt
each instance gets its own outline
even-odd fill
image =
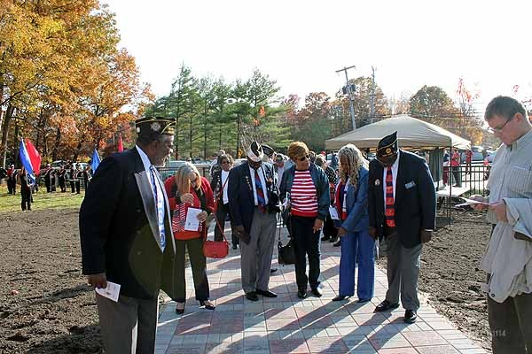
[[[419,289],[438,312],[490,350],[488,308],[481,291],[486,273],[480,263],[491,227],[480,213],[452,216],[452,226],[436,232],[423,249]]]

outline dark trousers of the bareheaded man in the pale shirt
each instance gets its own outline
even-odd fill
[[[488,296],[488,319],[493,354],[532,353],[532,294],[508,297],[502,304]]]

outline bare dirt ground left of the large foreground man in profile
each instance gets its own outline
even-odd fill
[[[77,219],[73,209],[0,214],[0,353],[102,352]]]

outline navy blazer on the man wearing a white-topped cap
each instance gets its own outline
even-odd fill
[[[278,201],[277,173],[273,170],[273,166],[268,163],[262,163],[262,171],[269,199],[268,212],[275,213],[276,211],[270,205]],[[232,226],[243,226],[248,234],[251,232],[251,222],[255,208],[251,179],[249,164],[246,161],[237,167],[231,168],[229,181],[227,182]]]

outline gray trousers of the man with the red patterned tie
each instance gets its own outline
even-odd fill
[[[421,260],[421,244],[407,249],[395,233],[385,238],[387,243],[387,281],[386,299],[391,304],[401,303],[405,310],[418,311],[418,278]]]

